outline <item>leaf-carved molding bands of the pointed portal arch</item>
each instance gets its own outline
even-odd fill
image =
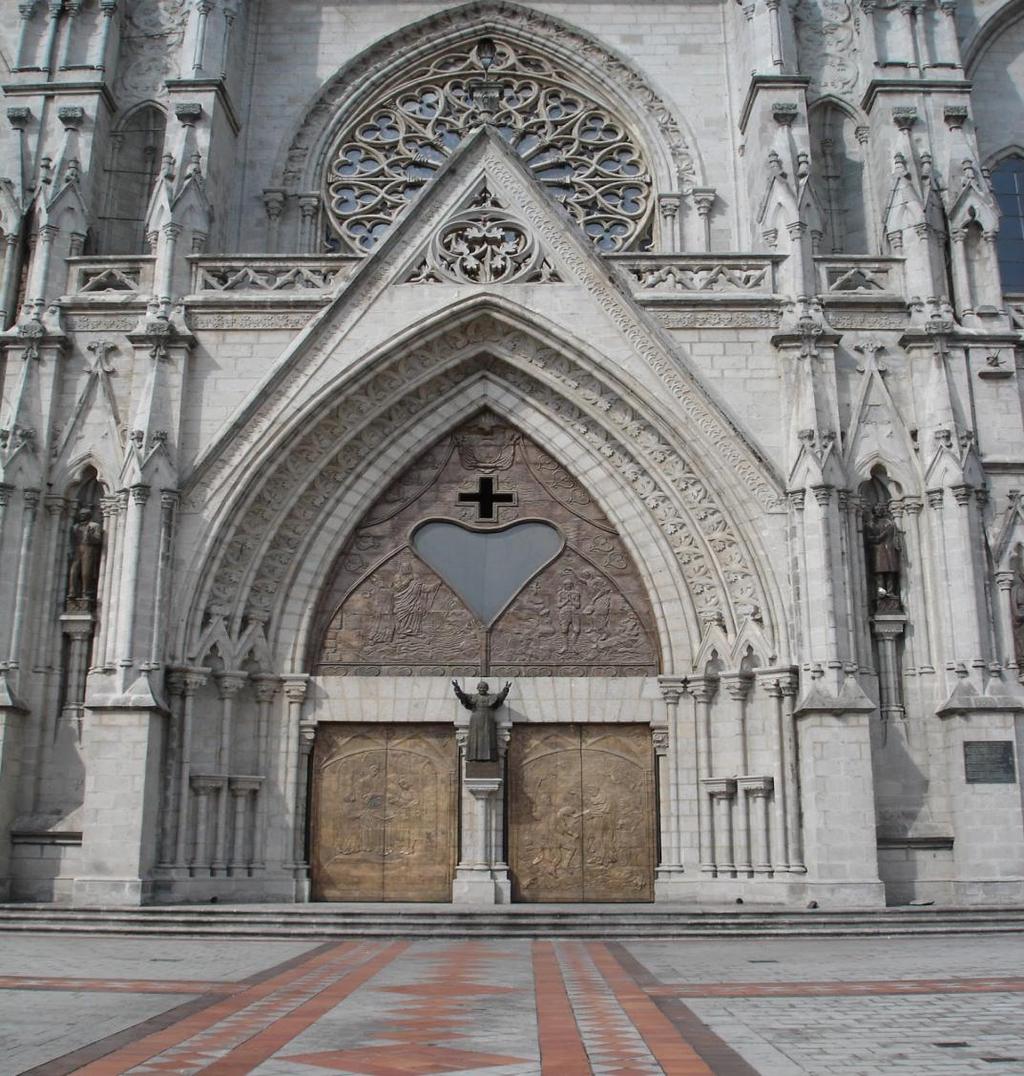
[[[678,448],[610,384],[525,332],[490,318],[450,330],[380,369],[345,399],[307,424],[303,436],[274,468],[221,547],[207,605],[217,611],[247,605],[272,611],[280,586],[324,506],[374,458],[395,430],[456,388],[467,367],[451,364],[481,346],[532,367],[501,363],[499,372],[525,398],[554,414],[606,459],[640,496],[674,551],[700,610],[765,608],[760,581],[745,543],[714,491]],[[470,358],[471,366],[482,360]],[[424,373],[441,372],[423,382]],[[552,385],[554,382],[558,387]],[[577,402],[578,401],[578,402]],[[596,415],[603,419],[598,422]],[[195,491],[194,491],[195,494]],[[282,508],[284,506],[284,508]]]

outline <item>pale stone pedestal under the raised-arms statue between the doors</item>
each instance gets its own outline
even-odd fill
[[[463,854],[452,883],[453,904],[511,900],[501,840],[501,785],[499,776],[463,778]]]

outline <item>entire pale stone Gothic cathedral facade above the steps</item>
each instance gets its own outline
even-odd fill
[[[1019,0],[0,12],[0,894],[1024,902]]]

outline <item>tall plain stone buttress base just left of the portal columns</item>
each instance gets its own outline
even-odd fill
[[[160,790],[160,711],[87,708],[80,907],[139,905],[152,887]]]

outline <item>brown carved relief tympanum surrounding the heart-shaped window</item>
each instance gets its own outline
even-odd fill
[[[465,491],[482,481],[497,489],[499,472],[495,501],[508,491],[512,497],[490,513],[466,502]],[[545,568],[515,582],[490,623],[459,596],[466,580],[446,578],[443,558],[416,544],[425,521],[506,533],[517,521],[546,521],[565,544]],[[657,670],[646,592],[614,528],[560,464],[490,412],[432,445],[383,491],[339,552],[318,620],[315,661],[327,675]]]

